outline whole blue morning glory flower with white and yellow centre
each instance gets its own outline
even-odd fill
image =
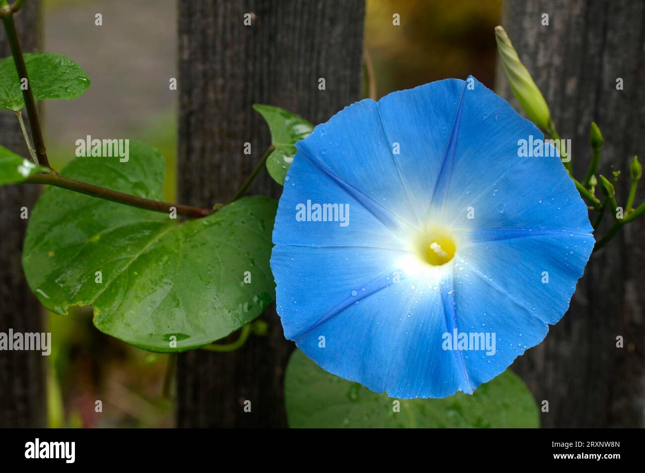
[[[566,312],[594,244],[542,139],[473,77],[317,126],[273,230],[286,338],[397,398],[471,393],[504,371]]]

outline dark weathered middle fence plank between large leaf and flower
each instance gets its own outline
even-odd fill
[[[245,13],[252,26],[244,26]],[[252,104],[315,124],[360,98],[363,17],[362,0],[179,1],[181,202],[225,202],[261,159],[270,137]],[[244,142],[252,155],[243,154]],[[263,171],[250,193],[278,198],[281,186]],[[253,336],[242,349],[179,355],[179,427],[286,427],[283,375],[294,345],[275,308],[263,318],[269,336]]]

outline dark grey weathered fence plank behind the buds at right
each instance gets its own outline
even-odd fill
[[[542,14],[549,26],[542,26]],[[573,140],[575,175],[582,178],[589,164],[595,121],[605,138],[600,173],[622,171],[617,193],[624,205],[631,158],[645,157],[645,3],[506,1],[503,24],[561,137]],[[618,77],[624,90],[616,90]],[[499,67],[497,90],[520,110]],[[609,226],[605,220],[600,235]],[[641,218],[592,255],[568,313],[513,365],[539,403],[549,401],[542,427],[643,426],[644,231]],[[624,338],[622,349],[617,336]]]

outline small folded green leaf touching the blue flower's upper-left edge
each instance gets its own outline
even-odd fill
[[[284,177],[295,157],[297,141],[310,135],[313,125],[283,108],[255,104],[253,108],[264,118],[271,130],[272,153],[266,159],[266,169],[278,184],[284,185]]]

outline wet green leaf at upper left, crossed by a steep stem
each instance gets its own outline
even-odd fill
[[[72,59],[54,53],[26,53],[28,87],[34,100],[75,99],[90,86],[87,74]],[[0,108],[19,111],[25,108],[20,79],[13,57],[0,59]]]

